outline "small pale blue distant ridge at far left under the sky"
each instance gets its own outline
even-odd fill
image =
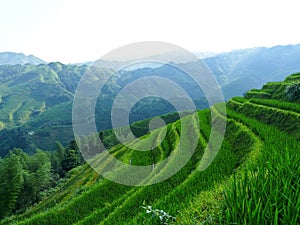
[[[0,52],[0,65],[24,65],[24,64],[44,64],[44,60],[34,56],[34,55],[25,55],[23,53],[15,52]]]

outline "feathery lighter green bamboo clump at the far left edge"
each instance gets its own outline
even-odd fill
[[[50,159],[41,150],[28,156],[14,149],[1,160],[0,170],[0,218],[40,201],[50,182]]]

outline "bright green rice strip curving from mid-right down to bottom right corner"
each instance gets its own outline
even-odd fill
[[[249,162],[225,191],[226,224],[299,224],[300,143],[288,134],[230,112],[264,140],[256,162]]]

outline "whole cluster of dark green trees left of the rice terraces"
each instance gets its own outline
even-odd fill
[[[84,162],[75,141],[66,149],[59,142],[56,146],[54,153],[37,149],[32,155],[15,148],[0,158],[0,219],[40,201],[59,178]]]

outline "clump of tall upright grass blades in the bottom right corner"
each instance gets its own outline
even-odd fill
[[[249,165],[225,194],[228,224],[299,224],[299,160],[274,152],[258,166]],[[298,170],[298,171],[297,171]]]

